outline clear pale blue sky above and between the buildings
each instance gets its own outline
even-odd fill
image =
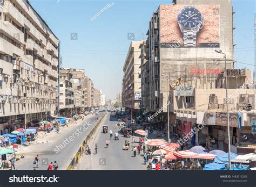
[[[235,68],[253,70],[255,1],[232,2],[236,12]],[[127,33],[134,33],[135,40],[146,39],[152,13],[159,4],[172,4],[172,0],[30,0],[30,3],[60,40],[62,67],[85,69],[95,88],[102,90],[106,99],[113,99],[122,90],[123,65],[131,42]],[[96,16],[107,4],[109,8]],[[76,34],[77,38],[71,38]]]

